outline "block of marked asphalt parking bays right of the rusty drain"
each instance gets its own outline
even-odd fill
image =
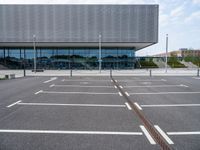
[[[137,108],[170,138],[175,149],[198,149],[200,85],[192,80],[168,77],[165,83],[149,81],[142,85],[143,82],[130,81],[120,86]]]

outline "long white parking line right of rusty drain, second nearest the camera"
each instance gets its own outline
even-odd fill
[[[157,105],[140,105],[141,107],[189,107],[200,106],[200,104],[157,104]]]

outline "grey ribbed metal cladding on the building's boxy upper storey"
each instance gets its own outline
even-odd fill
[[[0,5],[0,43],[157,43],[158,5]],[[150,44],[149,44],[150,45]]]

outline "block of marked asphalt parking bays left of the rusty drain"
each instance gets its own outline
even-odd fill
[[[159,149],[159,145],[152,144],[141,130],[139,118],[129,110],[129,105],[109,78],[102,81],[95,78],[62,80],[62,77],[54,80],[47,77],[41,82],[43,86],[31,90],[31,97],[13,100],[5,106],[10,113],[0,123],[1,146],[5,146],[5,141],[10,139],[8,143],[17,141],[18,147],[34,148],[35,144],[27,145],[27,140],[38,142],[40,139],[51,148],[50,141],[55,143],[68,139],[61,147],[67,144],[76,148],[71,145],[73,140],[83,145],[80,139],[84,137],[89,143],[85,146],[87,149],[94,148],[97,141],[105,149],[111,146],[116,149]],[[118,146],[119,143],[121,146]]]

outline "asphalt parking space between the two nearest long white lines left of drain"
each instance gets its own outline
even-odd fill
[[[125,107],[23,106],[0,129],[139,132],[139,125]]]

